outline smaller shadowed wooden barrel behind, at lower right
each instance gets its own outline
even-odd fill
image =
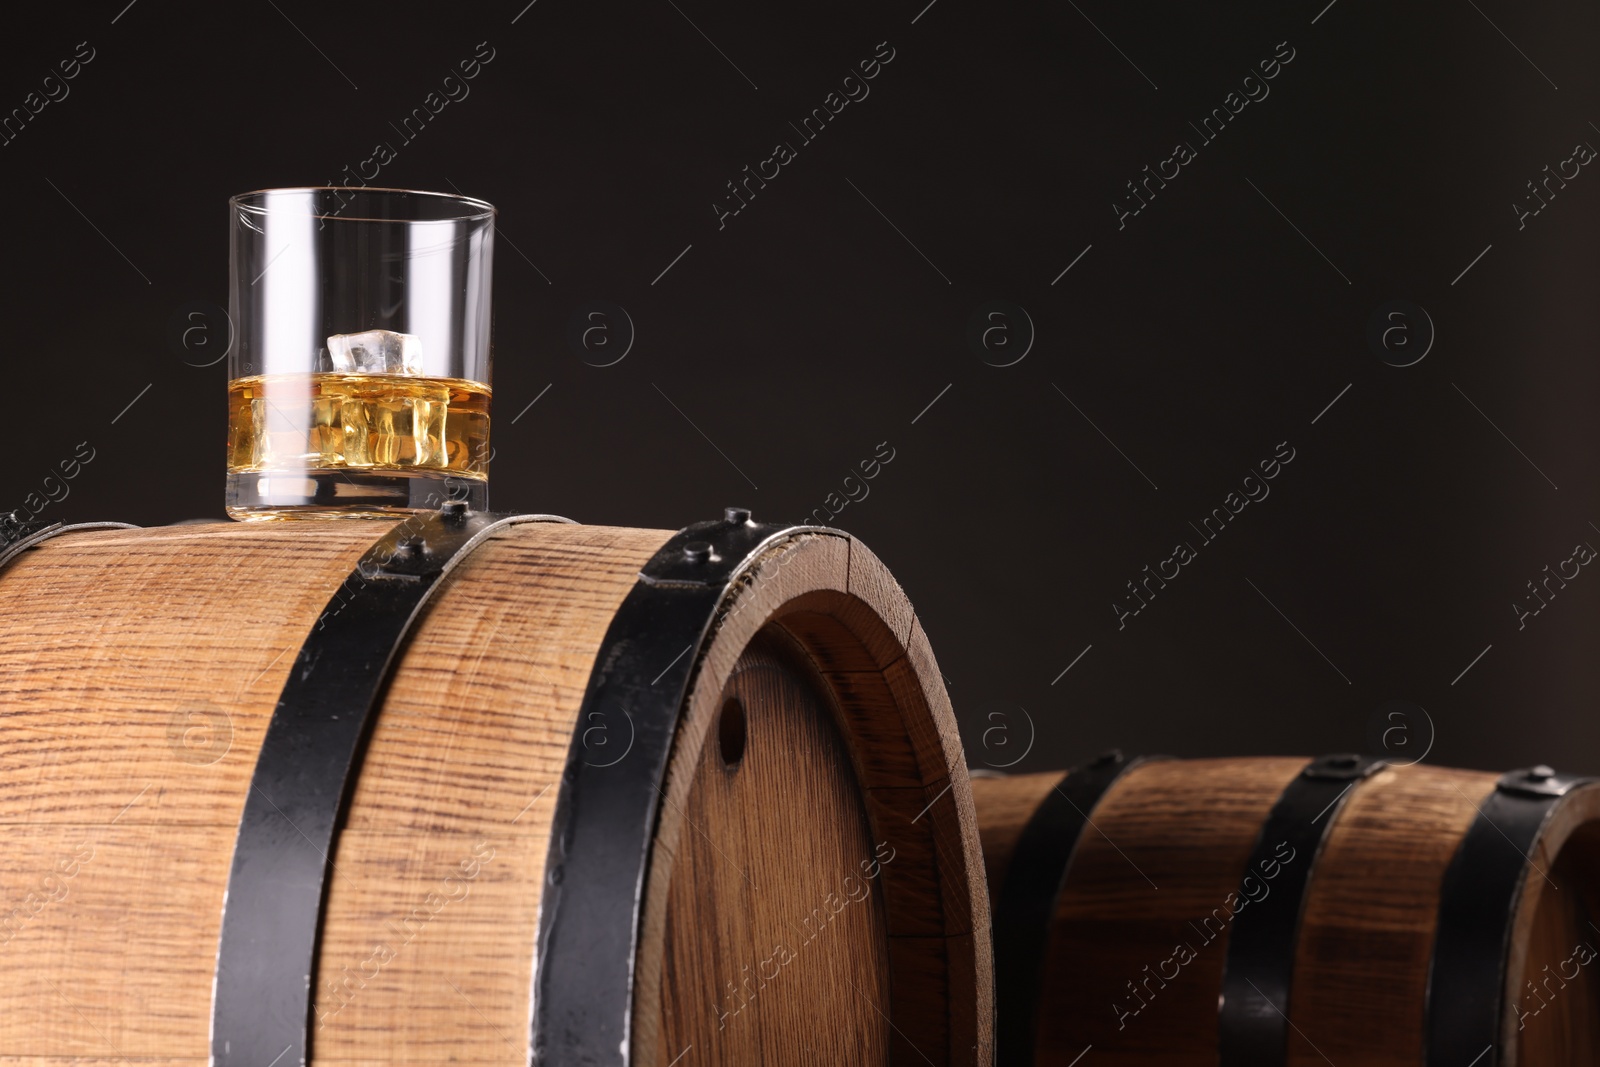
[[[1594,779],[1107,753],[973,797],[997,1064],[1600,1062]]]

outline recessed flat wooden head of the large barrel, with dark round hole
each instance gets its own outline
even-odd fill
[[[798,646],[758,637],[741,656],[682,816],[662,1062],[888,1062],[877,841],[826,685]]]

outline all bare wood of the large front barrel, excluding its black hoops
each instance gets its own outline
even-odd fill
[[[386,528],[85,533],[0,576],[11,845],[0,953],[29,963],[0,974],[0,1065],[206,1061],[256,750],[304,635]],[[514,526],[438,590],[331,857],[314,1062],[526,1062],[554,785],[606,627],[667,536]],[[851,539],[808,534],[765,563],[725,605],[675,742],[648,875],[637,1062],[672,1062],[678,1033],[698,1046],[672,1048],[686,1053],[678,1067],[819,1062],[806,1048],[848,1062],[984,1062],[976,822],[931,653],[898,585]],[[858,571],[864,595],[851,592]],[[861,675],[870,709],[835,673]],[[760,742],[731,776],[715,731],[706,744],[728,694]],[[584,744],[626,737],[602,729]],[[709,993],[762,966],[771,945],[749,952],[774,923],[816,923],[822,873],[848,861],[859,878],[878,841],[893,859],[872,880],[840,877],[866,897],[797,949],[781,976],[790,989],[730,1017]],[[728,857],[749,881],[730,878]],[[835,901],[822,893],[826,909]],[[738,1043],[701,1045],[734,1019]]]

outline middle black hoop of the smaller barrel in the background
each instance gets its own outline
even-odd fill
[[[1219,1067],[1288,1062],[1290,982],[1306,889],[1328,829],[1357,784],[1384,760],[1312,760],[1272,806],[1240,878],[1218,1003]],[[1464,1067],[1464,1065],[1459,1065]]]

